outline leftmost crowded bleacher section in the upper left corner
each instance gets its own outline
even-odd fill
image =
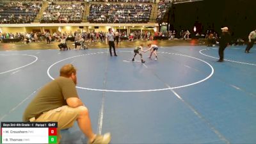
[[[0,2],[1,24],[22,24],[33,22],[41,6],[41,2]]]

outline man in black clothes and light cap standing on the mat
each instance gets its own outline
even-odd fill
[[[231,42],[231,35],[228,32],[228,28],[227,27],[221,28],[221,31],[222,31],[222,34],[220,38],[220,47],[219,47],[220,60],[218,60],[218,62],[224,61],[224,50]]]

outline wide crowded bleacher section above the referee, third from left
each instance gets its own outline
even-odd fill
[[[151,4],[91,4],[90,23],[147,23]]]

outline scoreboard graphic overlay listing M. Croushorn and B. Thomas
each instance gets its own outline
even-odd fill
[[[58,143],[57,122],[1,122],[1,143]]]

